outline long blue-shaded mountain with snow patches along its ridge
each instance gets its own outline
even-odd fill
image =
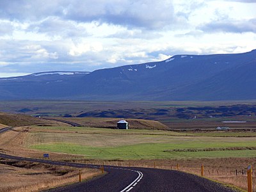
[[[256,50],[176,55],[93,72],[44,72],[0,78],[0,99],[251,100]]]

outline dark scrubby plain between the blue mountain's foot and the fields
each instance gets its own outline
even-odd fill
[[[74,100],[3,101],[1,111],[48,117],[157,120],[170,129],[256,129],[255,100],[223,102],[97,102]],[[196,117],[196,118],[195,118]],[[236,120],[243,123],[225,123]],[[1,124],[1,122],[0,122]],[[89,125],[88,125],[89,126]],[[105,125],[108,126],[108,125]],[[97,127],[96,124],[91,127]]]

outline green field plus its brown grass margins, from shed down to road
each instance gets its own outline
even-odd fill
[[[1,152],[79,163],[177,169],[246,189],[256,167],[255,132],[172,132],[85,127],[16,127],[0,135]],[[236,170],[237,174],[236,175]],[[253,179],[255,177],[253,172]]]

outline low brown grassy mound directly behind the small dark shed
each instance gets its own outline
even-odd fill
[[[116,122],[120,120],[120,118],[55,118],[58,120],[66,120],[69,122],[75,122],[77,124],[81,124],[84,127],[101,127],[101,128],[116,128]],[[129,122],[129,128],[131,129],[159,129],[159,130],[167,130],[168,127],[160,122],[155,120],[143,120],[143,119],[125,119]]]

